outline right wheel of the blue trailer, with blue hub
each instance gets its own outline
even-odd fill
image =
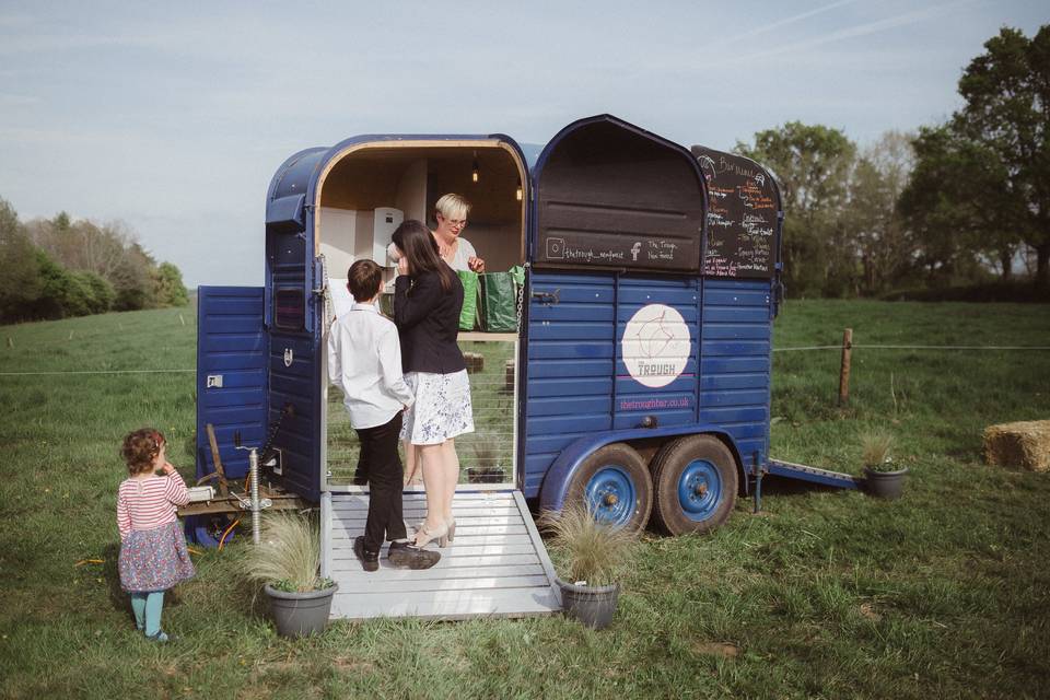
[[[679,438],[653,459],[653,521],[661,529],[668,535],[707,533],[733,512],[736,460],[716,438]]]

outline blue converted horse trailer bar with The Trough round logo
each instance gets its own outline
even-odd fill
[[[213,469],[206,423],[237,477],[233,433],[260,442],[281,419],[269,477],[312,501],[331,490],[325,292],[353,259],[383,265],[396,222],[425,221],[446,191],[471,200],[490,270],[526,269],[509,489],[677,534],[716,527],[763,472],[795,476],[769,458],[775,180],[609,115],[541,150],[361,136],[289,158],[267,192],[264,287],[200,289],[198,476]]]

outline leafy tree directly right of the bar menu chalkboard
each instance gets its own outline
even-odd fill
[[[793,296],[841,295],[855,283],[850,232],[841,218],[856,147],[825,126],[790,121],[736,151],[777,177],[784,202],[785,283]]]

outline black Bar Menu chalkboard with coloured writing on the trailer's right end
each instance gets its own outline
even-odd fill
[[[777,260],[780,196],[755,161],[692,147],[708,183],[708,247],[703,273],[768,278]]]

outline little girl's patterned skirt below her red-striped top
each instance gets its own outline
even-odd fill
[[[120,545],[120,587],[128,593],[167,591],[196,573],[178,521],[133,529]]]

